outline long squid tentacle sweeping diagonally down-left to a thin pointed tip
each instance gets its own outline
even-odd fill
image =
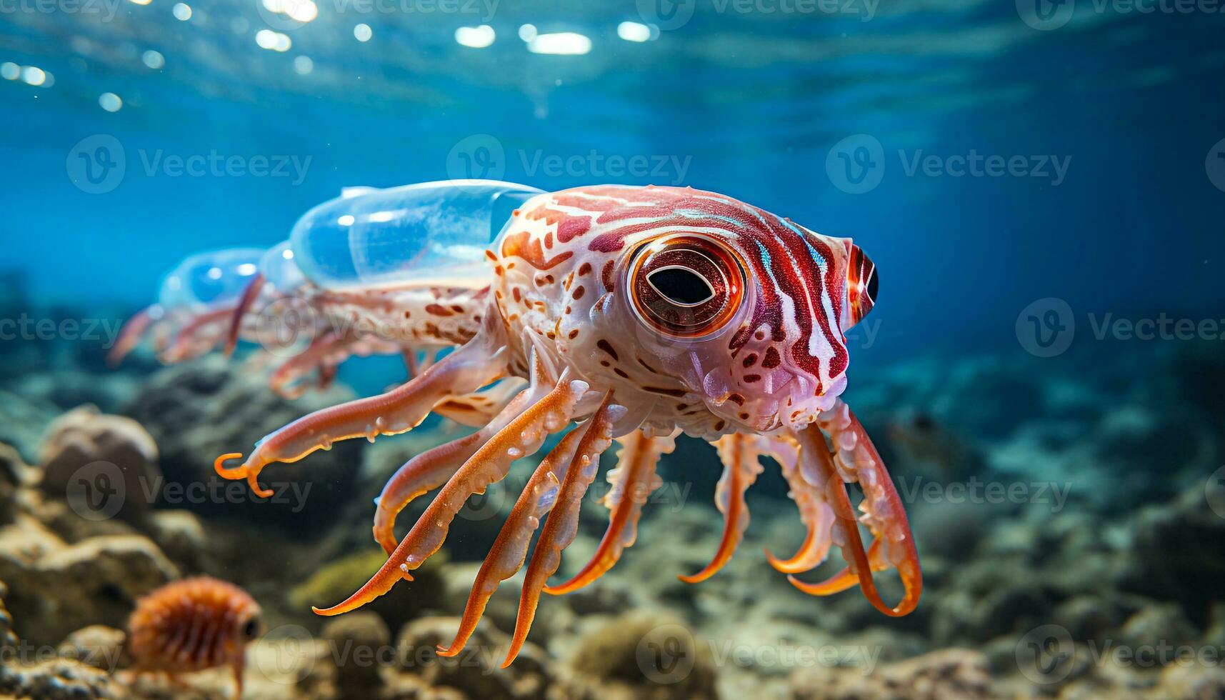
[[[533,357],[532,376],[533,384],[546,381],[544,365],[535,357]],[[387,561],[361,588],[336,606],[312,608],[315,613],[321,615],[347,613],[386,593],[401,579],[412,581],[413,576],[409,571],[424,564],[442,547],[451,528],[451,521],[454,520],[468,496],[474,493],[485,493],[490,484],[506,477],[511,462],[535,452],[550,433],[556,433],[568,425],[575,406],[587,389],[586,381],[570,379],[568,369],[562,371],[561,378],[548,396],[507,423],[447,479],[442,490],[425,509],[425,512],[396,547]]]

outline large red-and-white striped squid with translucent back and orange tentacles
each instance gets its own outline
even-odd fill
[[[771,566],[813,596],[858,586],[884,615],[918,606],[922,575],[902,500],[840,398],[845,332],[871,311],[878,287],[876,266],[850,239],[692,188],[545,192],[448,180],[347,192],[307,212],[283,250],[303,276],[295,294],[316,311],[310,322],[334,342],[375,338],[437,359],[381,395],[301,417],[246,455],[219,456],[218,474],[266,495],[266,467],[338,440],[405,433],[431,413],[478,428],[396,471],[374,515],[386,563],[317,614],[358,609],[412,581],[472,495],[550,444],[477,574],[454,639],[439,646],[458,653],[499,585],[526,566],[507,666],[543,593],[590,585],[635,543],[646,496],[662,484],[657,467],[681,435],[713,443],[723,463],[722,537],[709,564],[679,573],[682,581],[709,579],[733,557],[750,522],[745,494],[768,457],[805,528],[790,557],[766,553]],[[606,532],[573,577],[550,582],[614,445]],[[397,538],[398,514],[431,492]],[[801,580],[833,547],[845,568]],[[877,590],[886,570],[904,591],[893,604]]]

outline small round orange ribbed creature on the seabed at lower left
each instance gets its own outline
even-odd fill
[[[243,696],[246,645],[263,633],[260,604],[243,588],[208,576],[173,581],[136,602],[127,619],[127,653],[136,673],[178,680],[218,666],[234,671]]]

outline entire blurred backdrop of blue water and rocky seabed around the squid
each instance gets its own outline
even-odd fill
[[[0,319],[12,321],[0,325],[0,440],[12,473],[29,470],[11,478],[0,530],[16,634],[54,646],[123,628],[138,595],[191,573],[247,587],[274,640],[413,647],[450,634],[436,615],[458,614],[501,522],[479,512],[508,501],[452,537],[432,592],[413,588],[358,631],[323,630],[307,608],[377,566],[369,499],[451,425],[287,468],[316,488],[296,511],[162,494],[149,512],[82,525],[64,505],[67,477],[47,473],[64,444],[77,450],[58,467],[67,474],[118,440],[167,482],[203,483],[216,454],[403,374],[350,363],[339,386],[288,402],[251,362],[162,368],[138,354],[109,369],[118,324],[185,255],[271,246],[344,186],[691,185],[851,237],[876,262],[846,398],[911,511],[920,611],[888,620],[855,592],[809,598],[771,570],[761,547],[802,536],[773,465],[735,564],[676,582],[720,528],[713,450],[681,441],[660,467],[677,488],[646,509],[621,565],[592,592],[544,601],[561,612],[538,623],[529,669],[401,660],[371,674],[303,652],[290,666],[309,657],[314,672],[263,674],[250,693],[1225,696],[1205,661],[1225,657],[1223,6],[0,0]],[[65,423],[82,405],[97,408]],[[107,422],[120,417],[153,454]],[[78,429],[86,447],[65,436]],[[603,532],[606,510],[588,505],[562,573]],[[97,541],[120,536],[148,537],[140,561],[158,565],[115,574],[130,553]],[[75,576],[92,584],[48,597],[60,579],[17,544],[32,537],[77,552]],[[312,577],[337,560],[352,570]],[[490,634],[510,631],[513,598]],[[660,633],[664,614],[690,636]],[[687,663],[680,678],[638,653],[650,635]],[[1160,644],[1194,661],[1109,652]],[[834,661],[795,661],[797,647]],[[110,678],[98,688],[170,693]]]

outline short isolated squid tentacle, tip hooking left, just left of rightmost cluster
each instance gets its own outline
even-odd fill
[[[757,474],[762,473],[760,457],[764,451],[758,445],[757,435],[730,433],[715,440],[714,445],[723,461],[723,477],[714,492],[715,506],[723,514],[723,537],[719,538],[714,558],[706,568],[690,576],[676,576],[686,584],[706,581],[731,560],[736,546],[745,537],[745,528],[748,527],[745,492],[757,481]]]

